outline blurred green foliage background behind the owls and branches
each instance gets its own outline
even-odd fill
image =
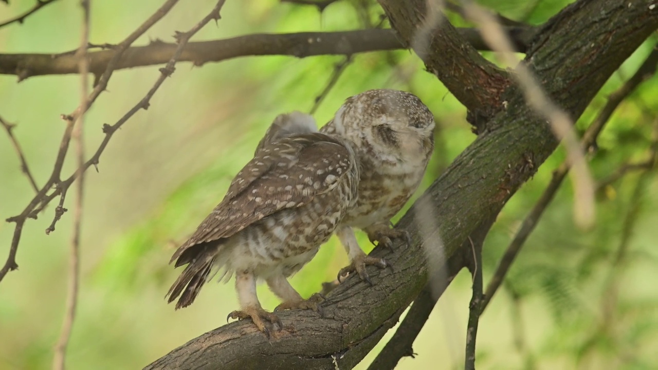
[[[93,1],[93,43],[118,43],[162,1]],[[514,19],[539,24],[568,1],[482,1]],[[23,13],[31,0],[0,4],[0,19]],[[182,0],[135,45],[172,41],[215,5]],[[343,0],[320,14],[276,0],[227,1],[222,19],[193,40],[215,40],[256,32],[353,30],[378,22],[373,1]],[[80,40],[78,1],[48,5],[22,25],[0,28],[2,53],[60,53]],[[456,25],[466,25],[454,14]],[[388,27],[388,22],[385,23]],[[655,39],[655,38],[654,38]],[[651,41],[651,42],[649,42]],[[655,40],[628,60],[578,121],[582,130],[607,99],[644,61]],[[492,57],[491,53],[484,53]],[[176,72],[118,131],[99,164],[86,177],[82,230],[82,286],[68,347],[70,369],[136,369],[184,342],[224,325],[236,309],[233,284],[209,284],[186,309],[174,311],[164,294],[179,271],[168,265],[178,243],[222,199],[232,176],[250,159],[257,141],[279,113],[309,111],[344,57],[251,57],[180,63]],[[495,60],[495,59],[492,59]],[[101,126],[136,104],[159,76],[159,66],[116,71],[108,92],[86,116],[86,147],[95,150]],[[79,101],[75,75],[39,76],[16,83],[0,76],[0,116],[17,123],[14,134],[41,185],[49,176],[64,123]],[[315,114],[324,124],[343,99],[371,88],[416,93],[438,124],[436,153],[424,190],[473,139],[465,109],[409,51],[356,55]],[[613,116],[592,161],[596,180],[623,163],[642,161],[658,111],[657,78],[644,82]],[[74,168],[73,155],[64,167]],[[484,248],[485,284],[523,217],[565,155],[545,163],[499,215]],[[16,154],[0,133],[0,215],[16,215],[32,199]],[[658,181],[655,172],[631,172],[598,194],[597,223],[584,232],[573,224],[569,182],[532,234],[493,299],[478,332],[480,369],[655,369],[658,363]],[[72,205],[73,198],[67,199]],[[0,282],[0,369],[45,369],[59,336],[66,296],[66,267],[72,215],[57,230],[43,232],[54,204],[29,220],[18,250],[18,271]],[[637,215],[629,223],[628,213]],[[628,233],[626,242],[622,234]],[[9,251],[13,224],[0,223],[0,258]],[[372,248],[363,235],[361,246]],[[625,243],[625,244],[624,244]],[[619,261],[619,262],[615,262]],[[347,263],[335,239],[292,278],[303,296],[332,280]],[[277,300],[265,286],[261,302]],[[462,272],[447,289],[415,342],[415,359],[399,369],[459,369],[463,365],[470,276]],[[365,369],[384,341],[359,365]]]

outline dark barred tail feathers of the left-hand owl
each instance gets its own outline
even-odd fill
[[[201,287],[208,280],[209,274],[213,271],[215,265],[216,249],[203,248],[190,261],[176,282],[169,288],[166,296],[169,296],[168,303],[173,302],[178,296],[180,299],[176,302],[176,309],[187,307],[194,302]],[[178,264],[177,264],[178,265]],[[181,294],[182,293],[182,294]]]

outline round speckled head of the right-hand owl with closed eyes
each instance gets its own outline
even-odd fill
[[[386,161],[418,161],[434,148],[434,115],[412,93],[378,89],[349,97],[332,124],[336,134]]]

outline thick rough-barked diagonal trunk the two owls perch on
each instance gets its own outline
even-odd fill
[[[424,0],[380,3],[409,45],[413,36],[409,30],[424,18]],[[578,1],[544,24],[525,62],[555,103],[578,119],[609,76],[658,28],[657,8],[655,0]],[[450,58],[445,53],[463,51],[465,44],[459,39],[447,40],[451,40],[448,49],[430,48],[423,57],[427,65],[442,65],[442,59]],[[468,74],[469,68],[480,68],[478,63],[433,72],[455,92],[459,80],[445,75]],[[494,91],[500,99],[464,98],[467,107],[474,109],[486,102],[485,108],[494,114],[487,129],[418,199],[417,205],[432,206],[436,215],[432,230],[424,230],[421,237],[415,219],[421,213],[415,205],[397,225],[411,232],[413,244],[398,245],[395,252],[382,248],[372,252],[391,261],[393,272],[372,271],[373,287],[347,278],[328,296],[323,318],[309,311],[281,313],[284,329],[272,334],[269,343],[250,322],[231,323],[190,340],[146,369],[351,369],[359,363],[426,285],[432,268],[428,261],[445,263],[456,258],[474,228],[495,217],[558,145],[549,124],[526,105],[519,89],[500,80],[499,71],[492,74],[491,79],[478,74],[480,84],[467,86],[472,92],[463,86],[459,90],[489,97]],[[465,81],[470,84],[472,79]],[[501,81],[504,90],[481,91],[481,86]],[[437,238],[442,244],[423,246],[423,240]]]

